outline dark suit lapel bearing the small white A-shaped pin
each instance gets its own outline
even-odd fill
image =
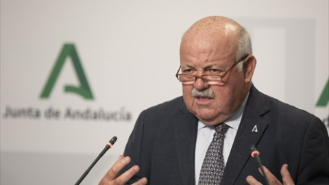
[[[250,156],[249,146],[256,145],[265,132],[267,123],[261,119],[261,115],[268,111],[263,94],[252,87],[221,184],[234,184],[238,178]]]

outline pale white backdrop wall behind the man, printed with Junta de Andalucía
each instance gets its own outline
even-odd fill
[[[328,7],[328,0],[1,0],[1,184],[74,184],[117,136],[82,182],[97,184],[123,153],[138,114],[182,94],[180,38],[210,15],[234,18],[251,33],[258,90],[328,119],[328,103],[316,106],[329,76]],[[64,92],[80,86],[70,58],[40,99],[67,43],[94,99]],[[50,118],[49,108],[57,112]],[[119,116],[72,118],[69,110]]]

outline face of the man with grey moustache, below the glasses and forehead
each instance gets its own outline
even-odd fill
[[[236,49],[236,38],[228,34],[218,36],[211,31],[190,32],[184,36],[180,48],[182,73],[223,75],[235,62],[239,62],[236,61]],[[219,85],[208,85],[201,78],[194,84],[183,84],[188,110],[207,125],[216,125],[232,116],[247,94],[245,75],[239,71],[239,65],[234,66]],[[195,93],[203,90],[210,91],[213,96]]]

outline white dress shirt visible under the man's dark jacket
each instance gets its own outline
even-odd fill
[[[236,132],[238,132],[238,128],[241,122],[241,118],[243,115],[243,111],[245,110],[245,103],[247,103],[247,97],[241,104],[240,108],[235,112],[233,116],[231,116],[223,123],[230,126],[228,128],[228,132],[225,134],[224,145],[223,145],[223,156],[224,162],[228,162],[228,156],[230,155],[230,151],[234,142],[234,138],[236,136]],[[212,141],[212,137],[215,134],[215,127],[206,125],[202,121],[199,121],[197,126],[197,143],[195,146],[195,182],[198,184],[199,175],[202,168],[202,162],[204,162],[204,157],[206,156],[207,149]]]

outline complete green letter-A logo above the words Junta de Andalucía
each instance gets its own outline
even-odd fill
[[[73,62],[73,66],[75,69],[75,73],[77,74],[77,77],[80,81],[80,86],[66,85],[64,88],[65,92],[76,93],[77,95],[80,95],[80,96],[84,97],[85,99],[94,99],[93,93],[91,93],[91,90],[89,88],[89,84],[87,82],[86,75],[84,75],[84,69],[82,69],[82,65],[81,65],[79,56],[77,56],[77,51],[73,44],[67,44],[67,43],[62,48],[62,51],[60,51],[60,56],[58,56],[55,66],[53,66],[53,70],[50,73],[50,76],[47,80],[45,88],[43,88],[43,90],[42,90],[40,98],[49,97],[51,90],[53,89],[53,86],[55,85],[55,82],[58,78],[58,75],[60,75],[62,66],[63,66],[64,62],[66,61],[66,58],[68,58],[68,57],[71,57],[71,60]]]

